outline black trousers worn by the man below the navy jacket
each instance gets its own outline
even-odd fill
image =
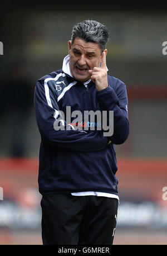
[[[113,243],[117,199],[61,193],[42,196],[41,207],[44,245]]]

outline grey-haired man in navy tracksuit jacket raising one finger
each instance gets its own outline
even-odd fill
[[[43,244],[113,243],[119,202],[114,144],[127,139],[129,121],[125,84],[107,75],[108,40],[101,23],[78,23],[62,69],[36,84]],[[92,129],[90,119],[87,130],[76,129],[79,122],[73,127],[74,119],[63,118],[67,107],[83,115],[107,112],[107,124],[114,111],[114,133],[104,136],[106,126]]]

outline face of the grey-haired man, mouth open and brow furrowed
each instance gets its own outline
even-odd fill
[[[68,53],[70,55],[70,71],[73,77],[85,82],[90,79],[89,69],[99,67],[102,55],[99,45],[95,42],[85,42],[76,37],[73,44],[68,41]]]

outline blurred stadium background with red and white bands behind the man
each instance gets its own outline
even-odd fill
[[[167,244],[166,5],[62,4],[1,3],[0,244],[42,244],[33,91],[62,67],[72,26],[85,19],[108,27],[109,74],[126,83],[129,97],[130,136],[116,146],[114,244]]]

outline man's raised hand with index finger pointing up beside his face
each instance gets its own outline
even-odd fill
[[[94,67],[89,70],[92,81],[96,84],[97,91],[101,91],[108,87],[107,69],[106,69],[106,53],[102,53],[101,67]]]

